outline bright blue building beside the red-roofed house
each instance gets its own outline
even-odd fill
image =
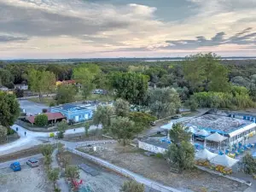
[[[93,110],[77,104],[68,103],[50,108],[50,112],[60,112],[67,121],[83,122],[92,118]]]

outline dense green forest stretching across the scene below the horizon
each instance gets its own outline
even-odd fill
[[[61,81],[76,79],[87,84],[85,95],[94,88],[115,90],[117,97],[135,104],[148,103],[148,87],[159,94],[176,90],[190,108],[251,108],[256,102],[256,60],[222,60],[212,53],[190,55],[183,61],[1,61],[0,84],[9,89],[21,83],[32,87],[32,71],[53,73]]]

